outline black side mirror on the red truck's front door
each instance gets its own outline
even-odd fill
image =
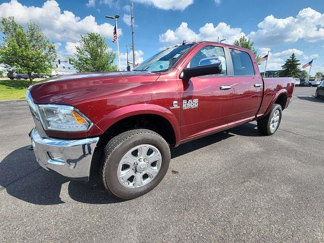
[[[221,63],[183,69],[183,77],[184,78],[204,76],[204,75],[210,75],[210,74],[220,74],[220,73],[222,73],[222,64]],[[182,73],[181,73],[181,76],[182,76]],[[182,78],[181,76],[180,76],[180,78]]]

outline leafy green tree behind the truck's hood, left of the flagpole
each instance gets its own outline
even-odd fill
[[[116,54],[109,51],[104,37],[98,33],[81,35],[74,55],[76,58],[69,57],[69,60],[77,72],[117,70],[117,65],[113,65]]]

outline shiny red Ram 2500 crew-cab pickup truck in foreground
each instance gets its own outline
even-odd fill
[[[133,71],[75,73],[30,86],[30,138],[43,168],[75,180],[100,168],[107,190],[130,199],[164,178],[170,147],[253,120],[262,134],[274,134],[294,88],[293,78],[262,79],[250,50],[178,45]]]

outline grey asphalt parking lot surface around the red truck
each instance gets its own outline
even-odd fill
[[[324,100],[297,87],[275,135],[256,123],[172,150],[129,201],[36,164],[25,100],[0,102],[0,242],[323,242]]]

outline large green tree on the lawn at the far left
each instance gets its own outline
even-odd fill
[[[17,24],[14,17],[2,18],[0,31],[3,42],[0,46],[0,62],[11,66],[16,72],[27,73],[32,84],[32,73],[48,73],[56,58],[53,42],[35,23],[29,23],[27,31]]]

